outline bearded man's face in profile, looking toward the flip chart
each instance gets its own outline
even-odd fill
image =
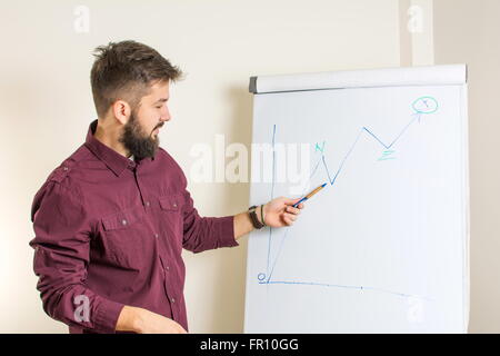
[[[123,127],[120,142],[137,160],[153,157],[160,146],[160,128],[170,120],[169,96],[169,82],[154,83]]]

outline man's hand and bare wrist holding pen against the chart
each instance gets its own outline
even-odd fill
[[[300,204],[298,208],[293,208],[293,205],[299,200],[300,199],[288,199],[284,197],[273,199],[257,208],[257,217],[260,222],[264,222],[270,227],[292,226],[297,220],[300,210],[303,209],[303,204]],[[233,224],[236,240],[254,229],[248,211],[236,215]]]

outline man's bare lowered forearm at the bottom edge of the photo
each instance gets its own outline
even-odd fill
[[[117,332],[138,334],[188,334],[182,326],[148,309],[124,306],[117,322]]]

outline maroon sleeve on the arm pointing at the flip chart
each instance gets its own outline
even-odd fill
[[[183,239],[182,246],[194,254],[220,247],[234,247],[234,217],[200,217],[193,206],[190,192],[183,192]]]

